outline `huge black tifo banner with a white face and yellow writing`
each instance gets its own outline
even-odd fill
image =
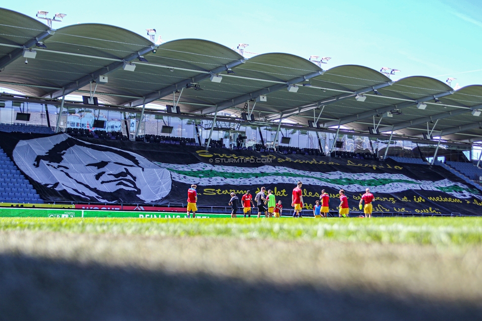
[[[0,146],[46,201],[185,205],[187,189],[197,184],[198,205],[227,206],[231,192],[241,198],[247,190],[255,195],[265,186],[284,208],[291,208],[291,191],[301,181],[305,209],[312,209],[325,189],[330,209],[336,210],[340,188],[351,210],[357,211],[365,188],[375,196],[375,213],[478,214],[482,208],[481,191],[442,166],[206,151],[194,146],[78,140],[67,134],[2,135]],[[142,210],[135,207],[132,210]]]

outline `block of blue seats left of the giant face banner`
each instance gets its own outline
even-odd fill
[[[0,202],[43,203],[37,191],[0,148]]]

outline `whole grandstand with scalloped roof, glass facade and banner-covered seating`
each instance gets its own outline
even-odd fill
[[[379,215],[480,212],[481,85],[0,16],[3,206],[182,211],[198,184],[200,211],[267,186],[290,214],[302,180],[309,211],[322,188],[344,188],[356,211],[370,187]]]

